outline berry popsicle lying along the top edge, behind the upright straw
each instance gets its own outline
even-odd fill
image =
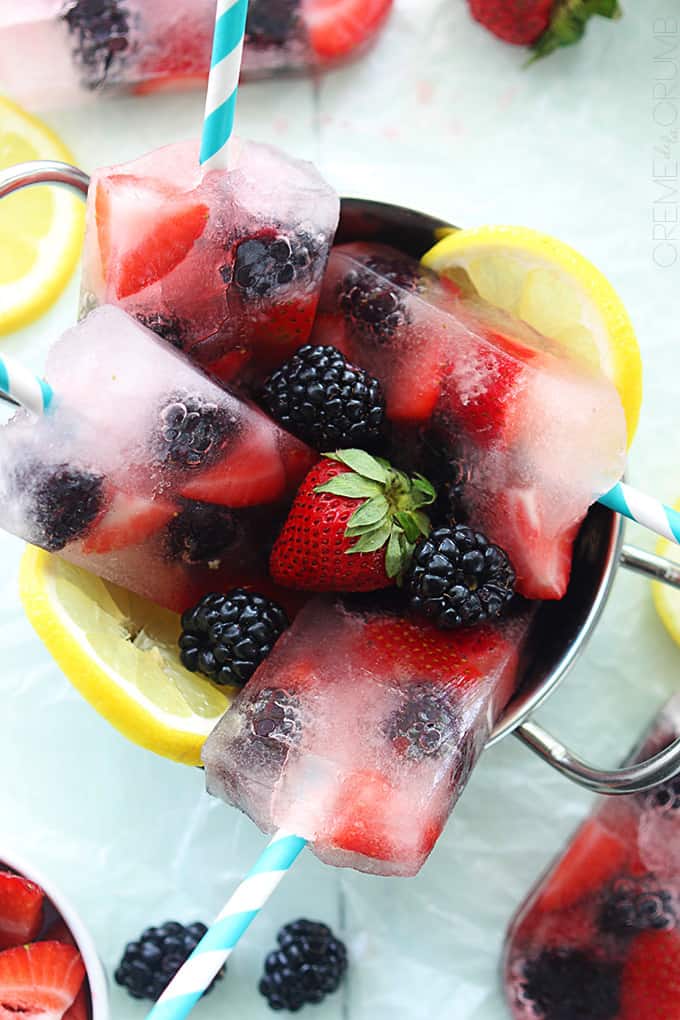
[[[250,0],[242,79],[314,72],[367,46],[393,0]],[[0,86],[42,106],[203,83],[215,0],[21,0],[0,10]]]

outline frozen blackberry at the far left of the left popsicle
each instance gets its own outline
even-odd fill
[[[81,539],[104,507],[104,478],[94,471],[28,461],[14,481],[33,521],[32,542],[51,553]]]

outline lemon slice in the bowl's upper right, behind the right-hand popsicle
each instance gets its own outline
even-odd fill
[[[640,352],[620,298],[587,259],[527,227],[480,226],[442,238],[422,261],[607,375],[619,391],[630,446],[642,402]]]

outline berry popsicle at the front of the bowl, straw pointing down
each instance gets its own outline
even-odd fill
[[[416,874],[513,692],[526,628],[308,604],[209,736],[209,792],[328,864]]]

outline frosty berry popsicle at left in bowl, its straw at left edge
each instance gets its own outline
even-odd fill
[[[117,308],[52,348],[54,409],[0,428],[0,524],[170,609],[268,592],[315,455]]]

